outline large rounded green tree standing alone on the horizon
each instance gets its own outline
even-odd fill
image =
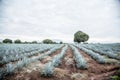
[[[89,39],[89,36],[82,31],[77,31],[74,34],[74,42],[81,43],[81,42],[88,41],[88,39]]]

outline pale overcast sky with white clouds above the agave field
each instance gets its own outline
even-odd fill
[[[0,0],[0,39],[120,42],[119,0]]]

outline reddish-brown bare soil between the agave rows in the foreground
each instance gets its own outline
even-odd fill
[[[68,47],[65,56],[61,59],[62,63],[56,68],[61,71],[61,75],[68,72],[64,76],[42,77],[40,75],[40,65],[42,64],[42,67],[44,67],[44,62],[40,63],[40,61],[37,61],[31,63],[31,68],[28,69],[28,67],[26,67],[15,74],[7,75],[3,80],[110,80],[110,76],[114,75],[116,70],[120,69],[120,65],[99,64],[85,52],[80,49],[78,50],[87,62],[88,69],[86,70],[76,68],[72,50]],[[57,50],[53,55],[50,55],[50,57],[54,57],[54,55],[60,51],[61,50]],[[29,65],[29,67],[31,65]],[[26,69],[31,71],[28,72]]]

